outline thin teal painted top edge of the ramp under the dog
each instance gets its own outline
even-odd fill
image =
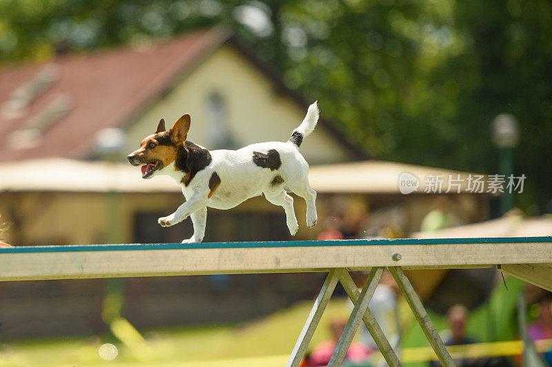
[[[259,247],[373,246],[390,244],[484,244],[552,242],[552,236],[503,238],[376,238],[371,240],[205,242],[194,244],[73,244],[61,246],[22,246],[0,248],[0,253],[44,253],[75,251],[186,250],[186,249],[256,249]]]

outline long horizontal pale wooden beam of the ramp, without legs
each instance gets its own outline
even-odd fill
[[[378,266],[431,269],[476,264],[552,263],[552,242],[228,248],[210,247],[209,244],[201,248],[200,244],[182,249],[139,246],[141,249],[123,247],[124,251],[106,251],[103,246],[87,247],[85,250],[70,247],[72,251],[65,247],[50,247],[52,251],[39,252],[21,252],[24,248],[1,249],[0,280],[328,271],[334,268],[371,269]],[[400,253],[400,260],[393,260],[395,253]]]

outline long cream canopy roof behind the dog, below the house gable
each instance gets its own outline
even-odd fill
[[[368,160],[337,165],[313,165],[308,181],[318,193],[372,193],[399,194],[398,178],[408,172],[420,178],[418,193],[424,192],[425,177],[429,174],[464,179],[462,193],[466,190],[468,174],[396,162]],[[37,177],[40,179],[37,180]],[[446,191],[445,180],[442,192]],[[143,180],[140,170],[124,163],[82,161],[65,158],[46,158],[23,162],[0,163],[0,193],[3,191],[73,191],[124,193],[178,193],[179,185],[168,176]],[[453,189],[451,194],[455,194]]]

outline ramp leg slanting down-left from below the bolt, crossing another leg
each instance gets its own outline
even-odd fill
[[[368,310],[368,303],[370,303],[370,300],[374,295],[375,287],[380,282],[383,272],[384,268],[376,268],[368,274],[368,278],[366,279],[366,283],[364,284],[364,287],[362,287],[362,292],[355,303],[355,308],[353,308],[351,317],[349,317],[343,333],[337,341],[337,346],[335,346],[335,349],[333,350],[332,357],[328,362],[328,367],[338,367],[342,365],[349,346],[351,346],[351,342],[353,342],[353,337],[357,333],[362,317],[366,314],[366,310]]]

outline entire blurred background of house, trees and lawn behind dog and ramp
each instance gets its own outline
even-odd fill
[[[0,244],[189,238],[190,220],[157,224],[179,187],[126,164],[141,138],[188,112],[188,140],[208,149],[285,141],[315,100],[301,151],[319,222],[306,229],[296,197],[294,240],[552,235],[550,1],[0,0]],[[292,240],[282,208],[209,210],[204,241],[258,240]],[[499,274],[408,273],[456,344],[533,330],[550,350],[550,293]],[[281,366],[323,279],[1,283],[0,366]],[[381,292],[405,361],[427,365],[391,278]],[[336,293],[315,356],[351,311]],[[357,365],[378,366],[363,333]],[[529,363],[520,344],[488,350],[462,364]]]

